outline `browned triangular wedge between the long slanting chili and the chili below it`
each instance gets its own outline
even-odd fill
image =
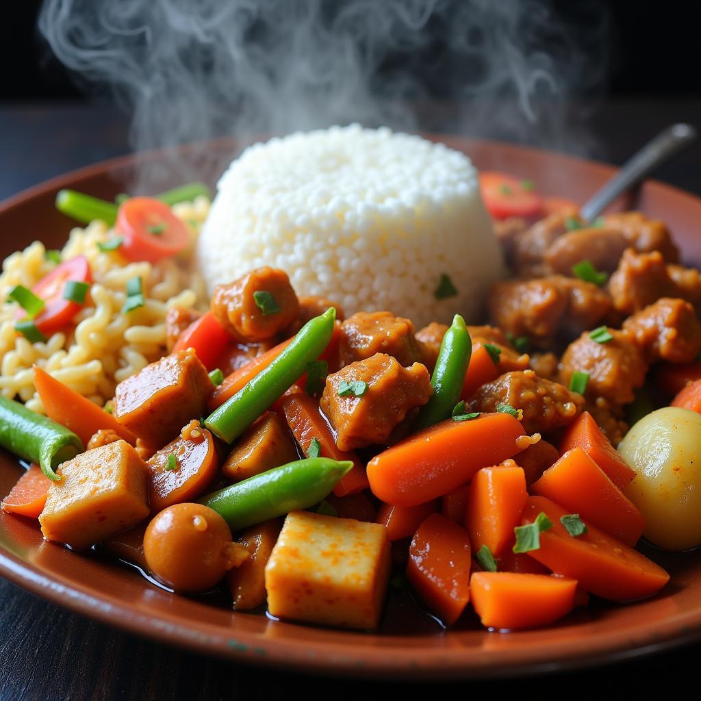
[[[290,429],[278,414],[269,411],[240,437],[222,472],[232,482],[240,482],[298,457]]]

